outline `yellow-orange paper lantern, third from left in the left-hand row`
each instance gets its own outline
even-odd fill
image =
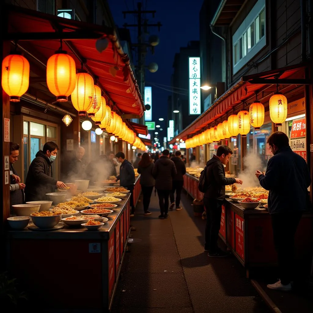
[[[74,91],[71,94],[71,100],[78,115],[86,116],[87,111],[91,108],[94,99],[94,80],[86,72],[76,74],[76,83]]]

